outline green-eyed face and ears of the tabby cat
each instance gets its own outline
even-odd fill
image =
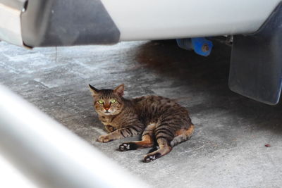
[[[99,115],[116,115],[123,109],[124,85],[121,84],[116,89],[96,89],[89,85],[94,98],[94,108]]]

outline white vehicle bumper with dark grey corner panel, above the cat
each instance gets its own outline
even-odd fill
[[[0,39],[35,47],[247,34],[280,1],[0,0]]]

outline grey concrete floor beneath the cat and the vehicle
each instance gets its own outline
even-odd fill
[[[215,44],[204,58],[174,41],[31,51],[0,42],[0,84],[153,187],[282,187],[282,105],[267,106],[231,92],[230,54],[230,47]],[[152,163],[141,162],[149,149],[116,151],[136,137],[95,142],[104,130],[88,83],[97,88],[124,83],[128,97],[180,99],[195,134]]]

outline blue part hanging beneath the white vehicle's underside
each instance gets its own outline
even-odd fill
[[[181,49],[194,50],[196,54],[201,56],[209,56],[214,46],[211,41],[204,37],[176,39],[178,46]]]

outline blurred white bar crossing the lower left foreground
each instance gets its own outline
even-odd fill
[[[0,152],[38,187],[148,187],[1,85]]]

